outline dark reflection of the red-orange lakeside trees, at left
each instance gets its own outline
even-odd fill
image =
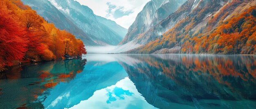
[[[0,74],[0,109],[43,108],[38,96],[46,97],[54,86],[68,83],[85,63],[86,59],[73,59],[10,68]]]

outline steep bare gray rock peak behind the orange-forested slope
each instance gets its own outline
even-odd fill
[[[146,44],[155,39],[154,37],[158,37],[159,33],[152,33],[154,26],[176,11],[185,1],[186,0],[151,0],[137,15],[135,22],[128,29],[126,37],[119,44],[126,44],[132,40],[138,44]],[[150,32],[150,35],[147,32]]]

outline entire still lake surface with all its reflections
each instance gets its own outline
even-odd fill
[[[255,109],[256,56],[88,54],[0,74],[0,109]]]

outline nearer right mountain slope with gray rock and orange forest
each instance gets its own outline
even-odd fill
[[[254,22],[255,0],[188,0],[130,38],[142,46],[126,53],[256,54]]]

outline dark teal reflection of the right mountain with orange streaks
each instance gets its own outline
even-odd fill
[[[254,108],[256,57],[129,55],[121,63],[148,103],[157,108]],[[182,106],[181,106],[182,105]]]

